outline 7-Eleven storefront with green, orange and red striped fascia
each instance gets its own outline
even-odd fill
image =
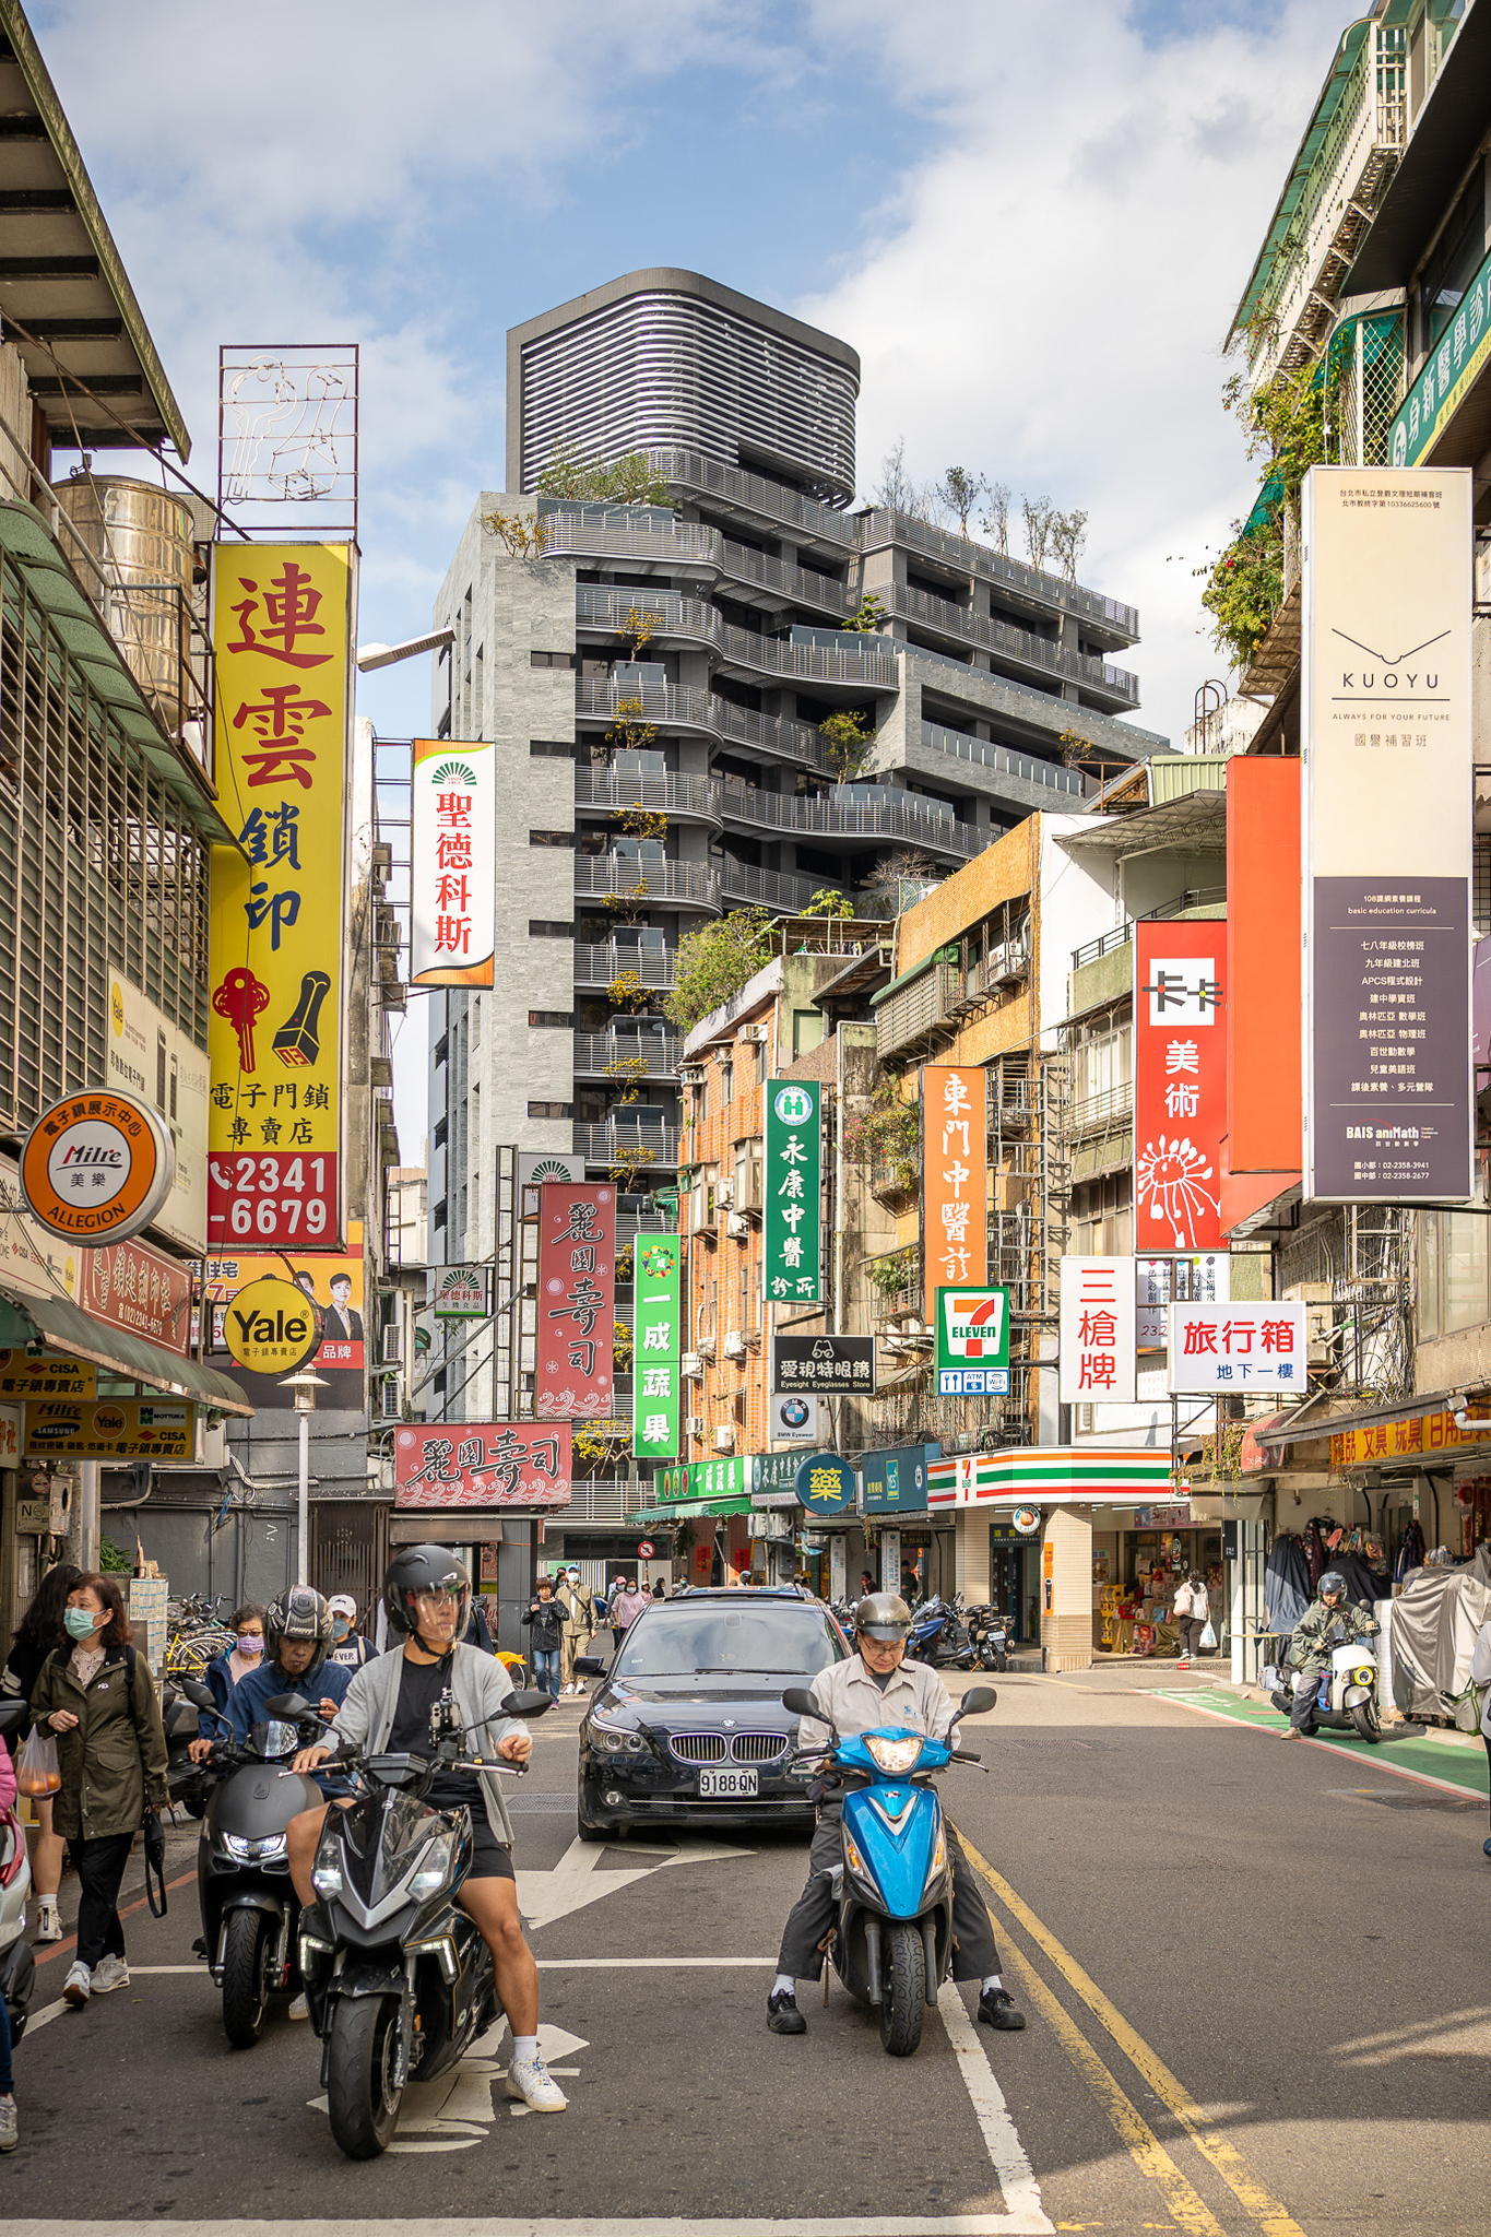
[[[952,1519],[957,1588],[995,1599],[1013,1637],[1039,1642],[1053,1671],[1093,1660],[1093,1514],[1129,1528],[1171,1497],[1169,1452],[1024,1445],[928,1461],[928,1514]]]

